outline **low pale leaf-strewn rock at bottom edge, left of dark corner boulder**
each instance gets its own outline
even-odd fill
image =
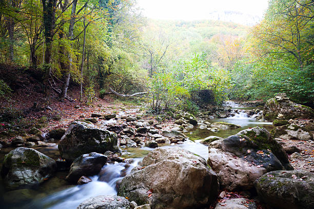
[[[255,202],[245,198],[225,199],[223,203],[217,203],[214,209],[256,209]]]

